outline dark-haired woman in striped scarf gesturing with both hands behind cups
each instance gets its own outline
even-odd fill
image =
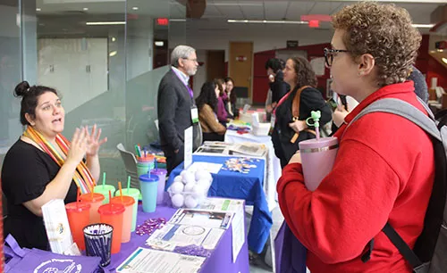
[[[9,149],[2,167],[2,190],[8,217],[4,235],[12,234],[21,247],[48,249],[42,206],[52,199],[72,203],[77,190],[89,193],[99,178],[101,129],[76,128],[69,142],[63,135],[65,112],[54,88],[21,82],[23,135]],[[85,162],[83,161],[85,157]]]

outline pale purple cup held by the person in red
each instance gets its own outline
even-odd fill
[[[299,143],[304,184],[309,191],[315,191],[325,176],[333,170],[338,152],[337,137],[308,139]]]

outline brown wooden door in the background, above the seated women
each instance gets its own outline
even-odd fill
[[[252,69],[253,42],[230,42],[228,75],[234,79],[235,87],[247,87],[249,101],[253,97],[251,90]]]

